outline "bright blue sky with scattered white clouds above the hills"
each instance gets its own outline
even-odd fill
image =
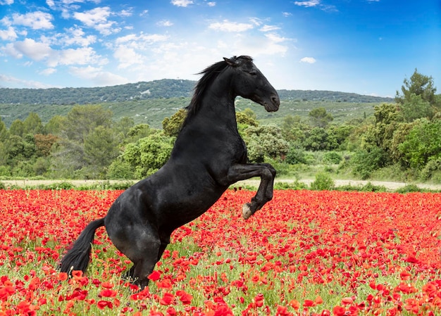
[[[0,0],[0,87],[198,80],[249,55],[276,89],[441,93],[441,1]]]

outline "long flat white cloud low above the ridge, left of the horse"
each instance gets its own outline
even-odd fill
[[[95,86],[99,87],[125,84],[129,81],[127,78],[105,71],[103,68],[96,68],[92,66],[82,68],[71,67],[69,72],[71,75],[79,77],[82,80],[90,80]]]

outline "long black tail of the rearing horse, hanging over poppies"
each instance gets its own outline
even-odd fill
[[[90,251],[92,250],[92,241],[94,241],[95,230],[104,226],[104,217],[94,220],[81,232],[77,240],[69,249],[68,253],[61,259],[58,269],[61,272],[70,274],[73,270],[86,272],[89,265]]]

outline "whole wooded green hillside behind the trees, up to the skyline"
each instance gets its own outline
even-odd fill
[[[112,87],[8,89],[0,88],[0,116],[7,126],[13,120],[25,120],[35,112],[48,122],[54,115],[66,115],[77,104],[101,104],[113,112],[115,120],[130,117],[136,123],[161,128],[163,118],[190,103],[196,82],[191,80],[155,80]],[[237,99],[237,110],[251,108],[264,122],[281,122],[285,115],[307,117],[310,110],[323,106],[335,122],[363,118],[373,113],[378,103],[394,102],[391,98],[363,96],[335,91],[280,90],[280,110],[267,113],[247,99]]]

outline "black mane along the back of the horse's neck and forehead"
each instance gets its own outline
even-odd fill
[[[225,59],[225,58],[224,58]],[[225,68],[228,66],[236,67],[239,65],[240,60],[244,61],[253,61],[253,58],[249,56],[239,56],[239,57],[232,57],[228,61],[230,63],[227,63],[226,60],[219,61],[218,63],[213,63],[213,65],[205,68],[201,72],[199,72],[197,75],[203,75],[199,82],[197,82],[196,87],[194,87],[194,94],[192,97],[192,101],[190,101],[190,105],[187,106],[187,116],[197,113],[197,110],[199,110],[199,106],[201,103],[201,100],[204,96],[206,87],[209,87],[211,82],[221,73]],[[231,64],[231,62],[235,64]]]

